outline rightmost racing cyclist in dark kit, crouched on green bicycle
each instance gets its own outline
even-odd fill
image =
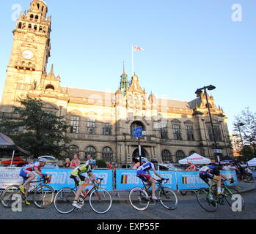
[[[229,181],[231,184],[234,182],[233,178],[227,178],[219,171],[219,166],[215,162],[212,162],[209,166],[204,166],[200,169],[200,178],[205,181],[206,184],[211,186],[211,180],[217,181],[218,195],[222,194],[222,178]]]

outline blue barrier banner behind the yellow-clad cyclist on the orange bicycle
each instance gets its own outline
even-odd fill
[[[54,190],[75,187],[74,180],[70,178],[72,172],[70,169],[43,169],[42,171],[47,175],[51,175],[51,182],[48,185],[52,186]],[[92,170],[92,173],[95,175],[95,178],[104,178],[104,181],[100,185],[101,188],[106,189],[109,192],[113,191],[112,170]],[[88,177],[87,173],[82,176]],[[87,189],[90,189],[91,187],[92,186],[87,186]]]

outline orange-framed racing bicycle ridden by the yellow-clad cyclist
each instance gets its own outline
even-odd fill
[[[97,180],[102,182],[104,178],[97,178]],[[112,205],[110,193],[106,189],[98,187],[95,182],[86,185],[92,185],[92,188],[87,192],[84,191],[81,193],[82,195],[78,199],[78,205],[82,208],[85,203],[88,203],[86,198],[89,197],[89,205],[92,210],[98,214],[106,214]],[[60,214],[70,214],[76,209],[72,204],[75,200],[77,189],[77,186],[75,186],[73,189],[64,188],[57,192],[54,198],[56,211]]]

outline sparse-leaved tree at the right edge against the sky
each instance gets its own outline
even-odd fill
[[[241,136],[241,145],[252,146],[255,152],[255,141],[256,141],[256,113],[253,113],[249,110],[249,107],[246,107],[245,110],[242,110],[241,115],[235,116],[234,132],[235,135]],[[239,131],[240,129],[240,131]],[[244,151],[248,152],[248,151]]]

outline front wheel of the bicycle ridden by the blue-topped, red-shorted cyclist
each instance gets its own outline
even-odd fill
[[[177,195],[168,187],[158,190],[157,197],[161,199],[161,204],[164,206],[164,208],[167,208],[167,210],[175,210],[175,208],[178,206]]]

